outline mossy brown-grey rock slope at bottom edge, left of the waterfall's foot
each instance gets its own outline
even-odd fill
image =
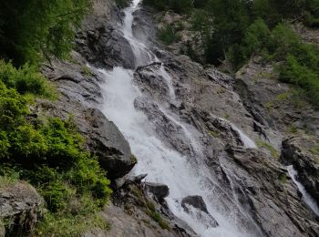
[[[159,187],[158,184],[149,185]],[[111,226],[107,236],[196,236],[189,227],[168,216],[158,200],[148,195],[144,184],[126,184],[115,191],[113,203],[105,207],[102,216]]]

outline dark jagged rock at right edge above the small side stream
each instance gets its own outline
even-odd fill
[[[310,145],[313,144],[313,145]],[[283,140],[283,151],[281,160],[286,165],[293,165],[298,171],[297,180],[310,193],[314,201],[319,205],[319,155],[311,153],[315,140],[309,141],[306,138],[292,138]],[[308,149],[306,148],[308,145]]]

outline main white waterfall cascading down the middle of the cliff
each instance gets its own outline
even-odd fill
[[[139,65],[147,65],[152,60],[158,60],[148,47],[133,36],[132,13],[138,9],[140,0],[134,0],[132,5],[125,10],[123,35],[129,40]],[[164,183],[170,188],[170,195],[166,199],[172,211],[181,220],[187,222],[200,236],[252,236],[248,232],[240,231],[232,220],[232,213],[221,214],[218,203],[214,198],[214,185],[218,185],[211,177],[210,171],[203,164],[201,144],[198,135],[184,124],[179,118],[170,114],[166,108],[159,105],[160,110],[178,125],[185,138],[189,141],[192,152],[191,158],[170,149],[159,136],[147,116],[134,108],[136,98],[143,97],[142,93],[133,84],[133,71],[123,67],[115,67],[111,71],[101,70],[105,74],[106,83],[103,85],[105,104],[103,112],[109,120],[113,121],[118,129],[129,140],[132,153],[138,158],[138,164],[134,168],[136,174],[148,173],[147,180]],[[175,93],[172,78],[160,67],[160,74],[166,80],[170,88],[170,100],[175,101]],[[250,144],[252,145],[252,144]],[[210,180],[207,182],[207,180]],[[208,184],[209,183],[209,184]],[[222,188],[220,187],[220,190]],[[208,211],[213,215],[219,226],[208,227],[205,220],[198,220],[196,216],[184,211],[180,201],[190,195],[200,195],[207,204]]]

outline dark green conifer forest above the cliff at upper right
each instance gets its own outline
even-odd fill
[[[314,106],[319,105],[319,50],[304,43],[292,24],[319,26],[319,1],[273,0],[144,0],[156,9],[190,15],[201,32],[204,64],[219,66],[225,59],[238,70],[255,55],[277,62],[280,79],[296,85]],[[161,34],[164,42],[178,39],[171,26]],[[192,57],[192,52],[189,52]],[[196,57],[193,57],[196,59]]]

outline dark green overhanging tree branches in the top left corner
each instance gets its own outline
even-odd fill
[[[66,58],[89,0],[4,0],[0,7],[0,56],[15,65]]]

